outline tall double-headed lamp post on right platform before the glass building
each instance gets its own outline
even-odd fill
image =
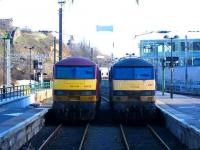
[[[174,70],[174,59],[173,59],[173,55],[172,55],[172,51],[173,51],[173,43],[172,40],[173,39],[177,39],[179,38],[178,35],[175,35],[173,37],[169,37],[168,35],[164,36],[164,39],[170,39],[170,44],[171,44],[171,55],[170,55],[170,73],[171,73],[171,79],[170,79],[170,98],[173,99],[173,70]]]

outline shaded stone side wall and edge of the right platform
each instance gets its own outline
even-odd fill
[[[157,101],[157,108],[163,114],[166,127],[174,134],[181,143],[190,149],[200,148],[200,130],[192,124],[198,123],[188,115],[182,114],[167,106],[161,101]],[[199,122],[200,124],[200,122]]]

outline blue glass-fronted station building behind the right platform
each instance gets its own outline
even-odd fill
[[[160,39],[146,38],[140,40],[139,44],[140,57],[155,67],[157,89],[161,90],[161,87],[165,86],[166,90],[170,90],[170,68],[166,61],[163,64],[163,60],[171,57],[172,50],[172,56],[178,57],[173,69],[174,91],[188,94],[200,93],[200,32],[192,36],[181,36],[181,38],[173,39],[172,42],[162,37]]]

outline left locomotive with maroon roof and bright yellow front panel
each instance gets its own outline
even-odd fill
[[[100,104],[100,71],[89,59],[69,57],[54,66],[53,110],[62,120],[91,120]]]

